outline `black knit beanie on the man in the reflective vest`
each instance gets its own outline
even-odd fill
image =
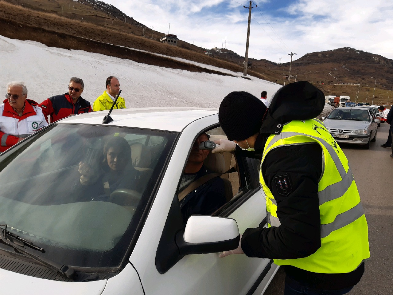
[[[266,110],[252,94],[234,91],[221,101],[219,122],[228,139],[245,140],[259,132]]]

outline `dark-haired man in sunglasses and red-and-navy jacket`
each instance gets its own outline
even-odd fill
[[[81,78],[72,77],[68,84],[68,93],[52,96],[39,104],[42,112],[48,121],[53,123],[70,115],[82,114],[84,112],[92,112],[90,102],[81,97],[83,92],[83,80]]]

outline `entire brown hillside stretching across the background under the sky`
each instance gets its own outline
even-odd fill
[[[0,0],[0,34],[9,38],[41,42],[47,46],[102,53],[149,65],[216,74],[226,73],[208,69],[208,66],[243,72],[244,57],[228,48],[207,50],[181,40],[178,47],[167,46],[159,42],[165,33],[147,28],[133,16],[125,15],[116,7],[95,0]],[[181,39],[181,36],[179,38]],[[176,60],[162,55],[174,57]],[[374,83],[374,97],[378,103],[386,104],[387,97],[393,95],[393,92],[387,90],[393,86],[392,59],[353,48],[313,52],[295,58],[296,55],[292,62],[291,82],[295,79],[307,79],[326,95],[349,95],[351,98],[358,97],[359,101],[365,101],[366,97],[371,99]],[[281,85],[285,80],[285,83],[288,83],[286,77],[289,63],[278,64],[252,57],[249,61],[251,66],[248,76]],[[377,80],[371,77],[376,77]],[[360,83],[360,87],[342,83]]]

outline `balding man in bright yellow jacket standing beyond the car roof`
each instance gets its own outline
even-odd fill
[[[102,95],[97,97],[93,104],[93,111],[105,111],[109,110],[112,107],[116,96],[120,91],[120,83],[119,80],[114,76],[107,77],[107,81],[105,82],[105,87],[107,90],[104,91]],[[113,109],[126,109],[125,100],[121,96],[116,101]]]

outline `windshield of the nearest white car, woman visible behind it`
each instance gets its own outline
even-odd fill
[[[119,266],[175,138],[52,124],[0,155],[0,224],[61,264]]]

